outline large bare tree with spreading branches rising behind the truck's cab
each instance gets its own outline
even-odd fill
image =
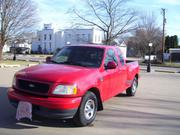
[[[127,8],[128,0],[85,0],[85,11],[74,9],[77,25],[96,26],[104,32],[105,44],[134,30],[136,12]]]

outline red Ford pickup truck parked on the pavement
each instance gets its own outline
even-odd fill
[[[32,114],[72,118],[86,126],[103,110],[104,101],[125,90],[135,95],[139,65],[126,62],[115,46],[66,46],[46,64],[17,72],[8,97],[15,107],[31,104]]]

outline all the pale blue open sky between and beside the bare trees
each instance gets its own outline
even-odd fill
[[[83,0],[33,0],[40,17],[39,29],[43,24],[51,23],[55,30],[72,26],[72,17],[68,10],[82,6]],[[180,0],[130,0],[127,7],[137,9],[142,13],[153,12],[157,23],[162,27],[161,8],[166,9],[166,35],[180,37]]]

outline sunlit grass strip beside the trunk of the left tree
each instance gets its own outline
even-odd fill
[[[0,61],[0,64],[6,64],[6,65],[28,65],[28,64],[39,64],[38,62],[29,62],[29,61],[20,61],[20,60],[16,60],[16,61],[13,61],[13,60],[3,60],[3,61]]]

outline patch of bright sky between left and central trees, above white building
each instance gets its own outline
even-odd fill
[[[38,7],[40,16],[40,27],[45,23],[51,23],[55,30],[62,29],[68,25],[66,14],[75,0],[34,0]]]

